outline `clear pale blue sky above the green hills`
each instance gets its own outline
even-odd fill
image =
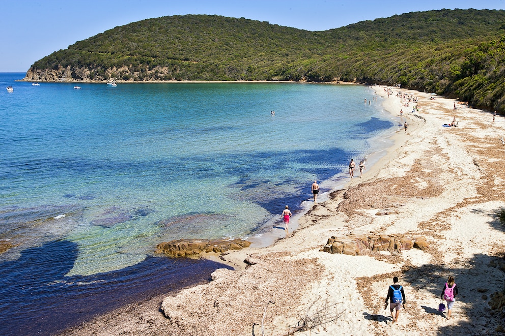
[[[216,14],[306,30],[434,9],[505,9],[505,0],[2,0],[0,72],[25,72],[36,60],[115,26],[148,18]]]

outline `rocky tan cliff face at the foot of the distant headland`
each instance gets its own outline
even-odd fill
[[[154,67],[151,70],[135,67],[120,67],[103,70],[101,68],[67,66],[52,69],[30,68],[22,81],[26,82],[103,82],[116,80],[124,82],[134,81],[164,81],[173,80],[172,74],[179,72],[176,67]]]

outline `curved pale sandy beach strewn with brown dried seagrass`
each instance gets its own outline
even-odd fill
[[[214,256],[235,271],[218,269],[210,283],[131,304],[62,334],[501,334],[505,322],[488,303],[503,291],[505,275],[505,226],[498,218],[505,208],[505,118],[493,122],[489,111],[429,93],[373,88],[399,120],[398,131],[363,178],[349,178],[273,245]],[[418,111],[399,92],[417,98]],[[442,126],[453,118],[458,127]],[[331,236],[351,233],[423,236],[428,247],[321,251]],[[450,275],[459,295],[446,319],[437,308]],[[384,309],[394,276],[407,301],[397,323]]]

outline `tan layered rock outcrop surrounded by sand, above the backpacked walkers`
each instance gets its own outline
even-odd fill
[[[416,245],[416,243],[419,243]],[[426,237],[417,236],[415,241],[403,234],[351,234],[348,236],[328,239],[326,245],[320,250],[331,254],[347,254],[351,256],[362,255],[369,251],[401,252],[413,247],[425,250],[428,248]]]

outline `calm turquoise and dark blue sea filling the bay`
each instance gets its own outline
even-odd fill
[[[19,244],[0,255],[1,334],[205,281],[223,266],[157,243],[282,231],[285,204],[300,209],[314,179],[338,185],[396,128],[358,85],[23,77],[0,74],[0,240]]]

